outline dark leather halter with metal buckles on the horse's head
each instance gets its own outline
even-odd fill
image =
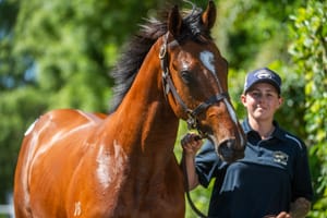
[[[168,45],[167,38],[168,38],[168,33],[164,36],[164,44],[161,45],[160,52],[159,52],[159,59],[160,59],[161,69],[162,69],[162,85],[164,85],[165,96],[167,96],[169,94],[169,92],[171,92],[174,99],[180,104],[180,106],[183,108],[183,110],[187,113],[187,120],[186,120],[187,129],[189,130],[196,129],[202,137],[206,137],[207,136],[206,133],[201,130],[201,125],[198,123],[197,116],[201,114],[202,112],[204,112],[208,107],[223,100],[225,98],[228,99],[229,94],[227,92],[218,93],[218,94],[209,97],[206,101],[199,104],[196,108],[190,109],[185,105],[185,102],[182,100],[180,95],[178,94],[177,88],[174,87],[171,76],[170,76],[170,71],[169,71],[169,66],[168,66],[169,64],[168,64],[167,49],[170,44],[177,44],[177,41],[173,40],[173,41],[169,43],[169,45]]]

